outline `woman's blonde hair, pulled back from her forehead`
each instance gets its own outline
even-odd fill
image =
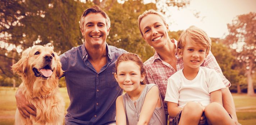
[[[139,26],[139,29],[140,29],[140,32],[141,32],[141,35],[142,35],[142,36],[143,36],[143,34],[142,34],[142,31],[141,31],[141,27],[140,27],[141,20],[142,20],[142,18],[144,18],[144,17],[147,16],[148,14],[155,14],[155,15],[160,16],[160,18],[164,21],[164,25],[167,26],[167,23],[166,23],[164,17],[161,15],[160,12],[157,12],[157,11],[152,10],[152,9],[151,9],[151,10],[146,10],[146,11],[143,12],[143,14],[141,14],[141,15],[138,17],[138,26]]]

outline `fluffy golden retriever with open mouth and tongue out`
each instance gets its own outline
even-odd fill
[[[22,78],[19,89],[30,104],[36,107],[36,116],[24,118],[16,110],[16,125],[62,125],[64,101],[58,85],[63,75],[59,56],[50,48],[34,46],[23,51],[21,59],[12,66]]]

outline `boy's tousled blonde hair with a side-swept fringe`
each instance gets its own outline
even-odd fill
[[[177,49],[184,50],[186,45],[186,39],[190,39],[193,44],[206,47],[206,56],[211,50],[211,39],[205,33],[204,30],[197,28],[196,26],[190,26],[188,29],[184,30],[179,37]]]

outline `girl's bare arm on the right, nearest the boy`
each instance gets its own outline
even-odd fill
[[[146,94],[137,125],[148,125],[158,100],[160,100],[158,87],[153,86]]]

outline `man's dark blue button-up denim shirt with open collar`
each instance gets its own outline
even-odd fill
[[[115,121],[115,100],[123,90],[115,81],[115,61],[123,49],[106,45],[108,62],[99,73],[88,60],[85,46],[80,45],[60,55],[70,104],[66,125],[103,125]]]

